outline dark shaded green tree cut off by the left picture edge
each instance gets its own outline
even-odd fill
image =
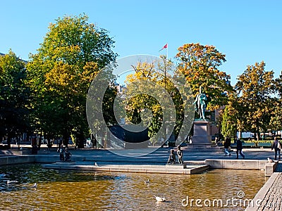
[[[29,129],[25,62],[13,51],[0,56],[0,139],[19,136]]]

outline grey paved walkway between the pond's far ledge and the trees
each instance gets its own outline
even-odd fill
[[[23,148],[30,146],[26,145]],[[223,153],[223,148],[212,147],[212,148],[189,148],[183,147],[183,160],[186,162],[197,161],[201,162],[206,159],[230,159],[233,160],[236,158],[235,151],[232,152],[231,156],[225,156]],[[152,151],[151,149],[149,149]],[[105,149],[92,149],[85,148],[74,150],[71,148],[71,153],[73,156],[84,157],[85,160],[94,160],[96,162],[111,162],[119,164],[164,164],[168,160],[168,155],[171,148],[156,148],[156,151],[153,153],[146,154],[145,150],[116,150],[116,151],[107,151]],[[51,151],[47,151],[46,146],[42,146],[41,150],[38,151],[39,154],[49,154],[49,155],[58,155],[56,152],[56,147],[52,147]],[[116,154],[118,153],[118,154]],[[245,153],[245,160],[267,160],[267,158],[274,159],[274,151],[271,151],[270,148],[245,148],[243,150]],[[0,151],[1,155],[1,151]],[[128,155],[129,157],[122,156]],[[242,159],[239,155],[239,159]]]

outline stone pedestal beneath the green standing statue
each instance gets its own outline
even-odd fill
[[[193,127],[192,147],[211,147],[212,136],[210,135],[210,123],[205,120],[195,120]]]

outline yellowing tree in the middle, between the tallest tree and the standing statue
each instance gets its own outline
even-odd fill
[[[192,102],[192,93],[185,79],[165,56],[155,63],[137,63],[133,69],[135,73],[128,75],[126,80],[126,96],[130,98],[127,104],[128,120],[139,122],[140,115],[142,124],[149,122],[149,137],[153,144],[160,139],[167,140],[170,132],[176,139],[181,136],[183,141],[189,131],[185,131],[187,134],[181,131],[183,128],[190,130],[191,124],[187,118],[194,117],[191,115],[194,114],[192,103],[188,102]],[[138,94],[140,90],[144,93]],[[147,110],[151,113],[142,115]]]

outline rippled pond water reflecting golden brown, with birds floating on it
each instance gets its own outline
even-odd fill
[[[47,170],[39,164],[0,166],[0,174],[6,174],[0,178],[0,210],[242,210],[242,201],[254,198],[268,179],[258,170],[140,174]],[[7,185],[8,179],[18,183]]]

